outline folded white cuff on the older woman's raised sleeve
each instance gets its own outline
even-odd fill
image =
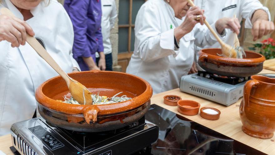
[[[174,28],[160,34],[160,47],[162,49],[169,49],[174,57],[178,55],[179,51],[174,51]]]

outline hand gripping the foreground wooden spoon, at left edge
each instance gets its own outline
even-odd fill
[[[7,15],[0,15],[0,41],[6,40],[12,43],[12,47],[26,44],[27,33],[34,35],[27,22]]]

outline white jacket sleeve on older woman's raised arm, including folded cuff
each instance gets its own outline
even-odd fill
[[[159,14],[157,6],[143,5],[138,11],[134,52],[145,62],[179,53],[174,51],[174,29],[162,32]]]

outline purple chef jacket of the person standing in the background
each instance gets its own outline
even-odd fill
[[[69,14],[74,29],[73,57],[82,71],[89,70],[82,57],[93,57],[103,52],[101,34],[100,0],[65,0],[64,8]]]

